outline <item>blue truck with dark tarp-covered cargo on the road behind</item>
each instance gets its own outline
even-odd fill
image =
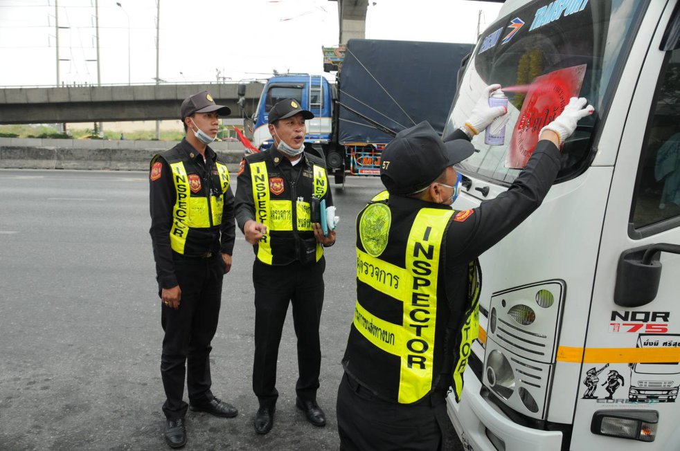
[[[294,98],[314,113],[305,144],[325,158],[335,183],[347,175],[379,175],[380,154],[398,131],[427,120],[439,133],[456,94],[458,68],[472,44],[350,39],[333,51],[323,75],[274,75],[265,83],[256,110],[247,114],[247,136],[268,149],[271,107]]]

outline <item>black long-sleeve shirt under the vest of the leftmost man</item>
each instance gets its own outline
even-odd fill
[[[184,151],[189,156],[193,171],[199,174],[204,181],[203,190],[220,190],[220,180],[217,174],[217,154],[210,147],[206,147],[206,160],[184,139],[178,145],[179,151]],[[154,248],[156,261],[156,276],[161,288],[177,286],[175,277],[175,264],[170,246],[170,229],[172,228],[172,210],[176,202],[175,183],[172,181],[170,165],[163,158],[157,160],[161,163],[160,176],[150,181],[150,213],[151,228],[149,233]],[[193,230],[195,231],[195,230]],[[186,257],[200,257],[208,252],[222,252],[231,255],[236,237],[234,224],[234,196],[231,185],[224,193],[224,205],[222,209],[222,223],[219,226],[200,229],[202,232],[199,239],[189,236],[185,245]]]

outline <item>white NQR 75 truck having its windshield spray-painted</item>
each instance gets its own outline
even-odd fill
[[[487,84],[509,120],[458,165],[456,210],[506,190],[569,97],[596,112],[542,206],[481,256],[478,340],[447,398],[467,450],[680,450],[680,403],[649,396],[677,394],[680,362],[679,41],[679,0],[508,0],[469,57],[443,138]]]

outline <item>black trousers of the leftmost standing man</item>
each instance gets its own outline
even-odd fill
[[[185,363],[190,403],[200,405],[213,399],[210,351],[220,315],[224,262],[219,253],[208,259],[176,258],[175,275],[181,289],[179,309],[161,307],[163,413],[170,420],[184,417],[188,407],[182,401]]]

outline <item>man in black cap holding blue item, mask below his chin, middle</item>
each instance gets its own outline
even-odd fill
[[[307,421],[325,425],[316,403],[321,367],[319,320],[323,306],[323,246],[332,246],[335,232],[312,223],[321,200],[333,203],[325,162],[304,151],[305,120],[314,115],[297,100],[278,102],[269,111],[270,149],[241,163],[236,189],[236,221],[253,245],[255,286],[255,362],[253,392],[260,408],[254,426],[267,434],[274,425],[276,360],[288,304],[298,339],[296,405]],[[325,214],[325,212],[321,212]]]

